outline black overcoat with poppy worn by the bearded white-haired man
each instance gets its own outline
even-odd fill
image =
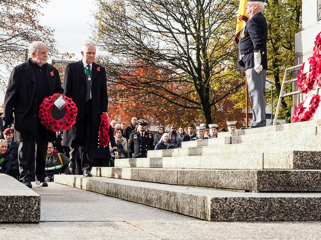
[[[16,66],[11,72],[8,88],[5,95],[4,106],[4,123],[9,125],[13,120],[15,112],[15,140],[27,141],[38,139],[38,115],[39,105],[43,99],[38,98],[39,89],[36,73],[33,69],[30,58],[24,63]],[[46,64],[46,85],[49,86],[47,91],[49,94],[63,93],[61,80],[58,70]],[[53,75],[52,73],[53,72]],[[47,131],[48,140],[55,140],[56,134],[51,130]]]

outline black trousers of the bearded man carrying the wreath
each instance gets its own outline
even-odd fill
[[[38,123],[38,139],[36,141],[21,141],[19,144],[20,181],[32,181],[33,169],[35,169],[36,180],[45,181],[47,147],[46,128],[41,123]]]

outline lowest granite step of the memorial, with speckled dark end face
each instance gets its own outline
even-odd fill
[[[321,220],[319,192],[236,192],[80,175],[56,175],[55,182],[209,221]]]

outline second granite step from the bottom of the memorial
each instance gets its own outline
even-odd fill
[[[94,176],[247,191],[321,191],[321,170],[93,167]]]

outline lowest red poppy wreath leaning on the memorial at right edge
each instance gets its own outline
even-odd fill
[[[292,122],[308,121],[314,115],[316,108],[319,106],[320,96],[313,95],[308,107],[304,107],[305,99],[297,105],[292,116]]]

